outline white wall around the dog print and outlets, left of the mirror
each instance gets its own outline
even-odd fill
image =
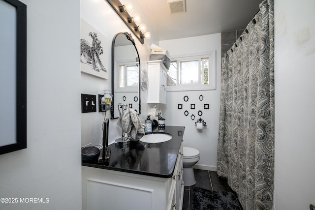
[[[112,10],[105,0],[81,0],[81,18],[92,25],[96,30],[102,33],[107,40],[101,40],[104,54],[108,57],[108,63],[103,63],[108,70],[108,79],[101,79],[85,73],[81,73],[81,93],[84,94],[104,94],[103,90],[111,90],[111,47],[114,35],[117,32],[125,31],[127,27],[119,19],[116,13]],[[98,105],[98,102],[97,102]],[[98,145],[102,141],[102,122],[104,113],[82,113],[81,114],[81,134],[82,146],[93,143]],[[110,112],[107,112],[106,118],[110,119]],[[110,120],[109,125],[113,129],[110,136],[115,136],[115,131],[118,129],[113,126],[113,120]],[[116,124],[116,122],[115,122]]]

